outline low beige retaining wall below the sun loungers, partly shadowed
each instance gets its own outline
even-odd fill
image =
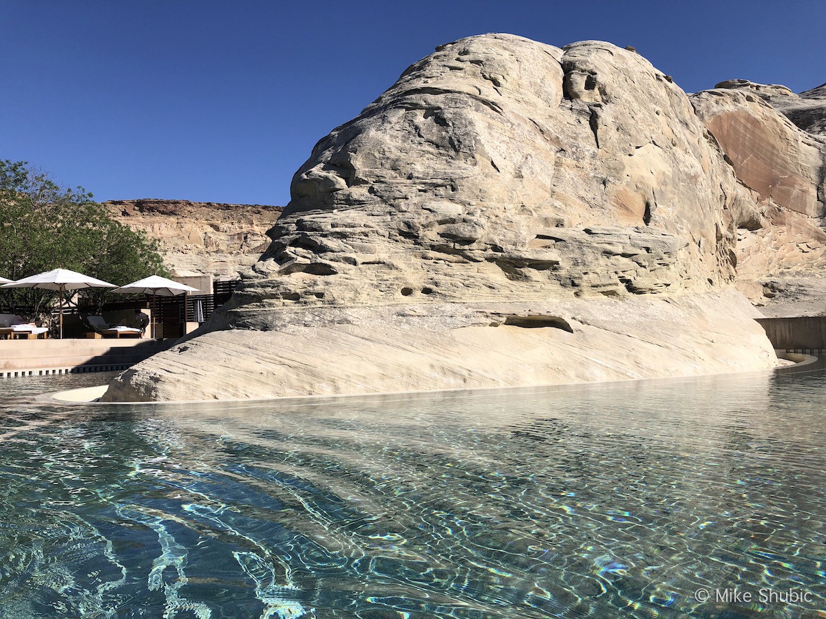
[[[0,340],[0,378],[125,370],[174,343],[126,338]]]

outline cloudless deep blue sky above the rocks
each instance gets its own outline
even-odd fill
[[[687,92],[826,82],[822,0],[0,0],[0,158],[97,200],[284,205],[316,141],[436,45],[634,45]]]

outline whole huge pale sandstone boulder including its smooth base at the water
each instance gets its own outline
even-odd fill
[[[320,140],[233,300],[106,399],[768,367],[725,289],[764,217],[752,196],[633,51],[459,40]]]

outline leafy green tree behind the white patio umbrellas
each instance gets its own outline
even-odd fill
[[[54,268],[117,285],[169,276],[157,241],[112,220],[83,187],[61,187],[25,161],[0,161],[0,276],[17,280]],[[36,313],[56,298],[54,292],[31,288],[0,294],[4,305],[26,305]],[[112,295],[102,288],[82,294],[97,311]]]

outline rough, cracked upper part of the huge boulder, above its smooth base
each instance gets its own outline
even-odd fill
[[[472,37],[316,145],[240,301],[705,287],[733,276],[743,206],[685,94],[638,54]]]

